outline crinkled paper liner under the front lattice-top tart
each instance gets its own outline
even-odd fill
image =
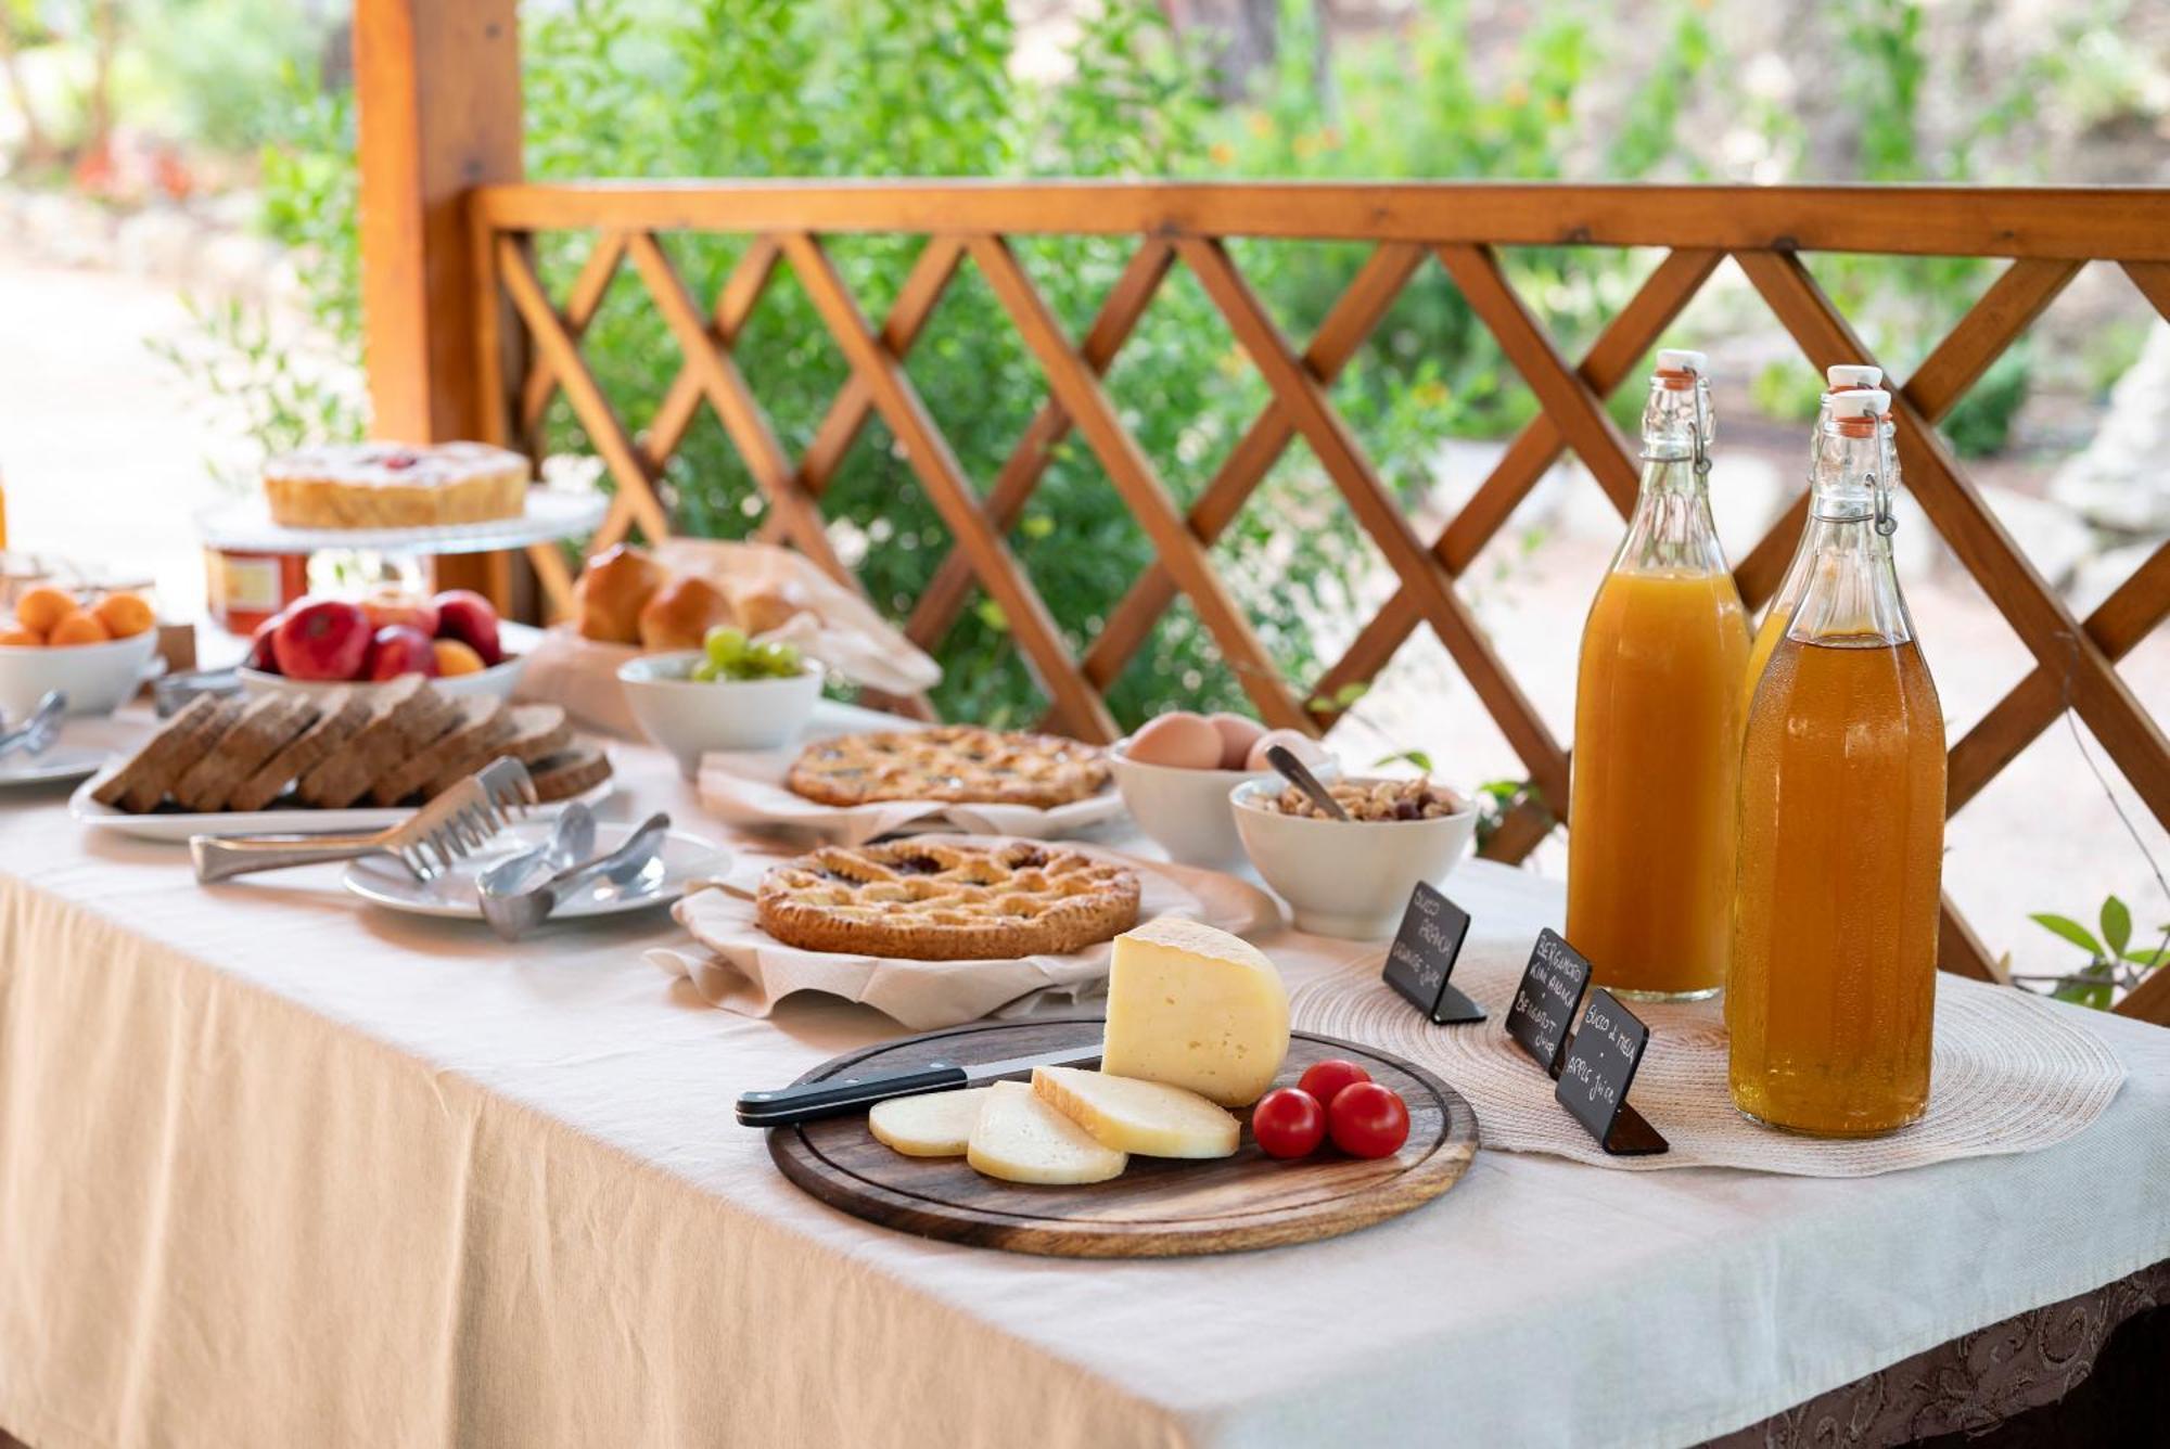
[[[1111,850],[1092,855],[1137,872],[1139,920],[1185,915],[1237,935],[1280,920],[1280,907],[1265,892],[1235,876]],[[773,863],[740,859],[725,881],[753,892]],[[762,931],[751,900],[714,887],[694,887],[671,913],[692,931],[694,946],[655,948],[647,959],[666,974],[690,980],[707,1004],[749,1017],[766,1017],[794,991],[827,991],[864,1002],[911,1030],[957,1026],[985,1015],[1026,1015],[1048,1002],[1100,996],[1113,954],[1109,941],[1063,957],[1013,961],[905,961],[801,950]]]

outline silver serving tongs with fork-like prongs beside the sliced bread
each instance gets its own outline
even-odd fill
[[[473,855],[497,837],[512,820],[536,803],[527,766],[516,759],[493,759],[480,772],[445,790],[434,800],[388,831],[347,835],[191,835],[189,857],[195,879],[230,881],[258,870],[354,861],[365,855],[391,855],[417,881],[434,881],[454,861]]]

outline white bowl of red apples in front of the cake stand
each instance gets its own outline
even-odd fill
[[[256,629],[241,688],[323,694],[425,675],[438,694],[510,698],[521,664],[497,642],[497,610],[482,594],[451,588],[425,599],[378,590],[360,601],[295,599]]]

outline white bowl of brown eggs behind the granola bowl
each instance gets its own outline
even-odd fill
[[[1131,818],[1167,859],[1226,870],[1243,863],[1228,796],[1246,781],[1278,779],[1265,764],[1272,744],[1289,746],[1313,770],[1332,768],[1326,746],[1295,729],[1189,709],[1146,720],[1109,748],[1107,761]]]

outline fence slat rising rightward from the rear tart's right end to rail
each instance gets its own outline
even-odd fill
[[[1348,367],[1363,341],[1371,336],[1380,317],[1393,306],[1408,278],[1424,262],[1424,249],[1406,243],[1382,243],[1365,258],[1365,265],[1350,280],[1348,291],[1335,302],[1317,336],[1304,349],[1304,369],[1322,384],[1332,382]],[[1185,518],[1198,542],[1211,544],[1235,523],[1252,490],[1274,469],[1274,462],[1295,438],[1295,423],[1280,399],[1269,399],[1265,410],[1252,421],[1237,445],[1213,471],[1213,477],[1198,492]],[[1176,581],[1159,562],[1146,566],[1131,592],[1109,612],[1100,636],[1085,651],[1085,677],[1096,688],[1107,690],[1122,675],[1137,649],[1152,633],[1167,605],[1176,601]],[[1304,729],[1317,724],[1304,720]]]

